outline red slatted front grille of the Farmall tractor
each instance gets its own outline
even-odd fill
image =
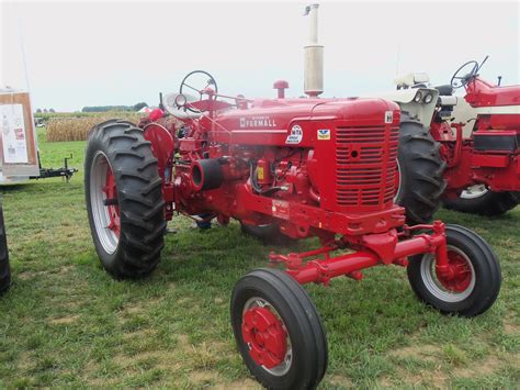
[[[336,201],[340,207],[378,210],[395,193],[398,127],[336,130]]]

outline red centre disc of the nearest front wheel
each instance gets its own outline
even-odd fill
[[[242,338],[249,355],[259,366],[280,366],[287,353],[287,332],[282,321],[268,308],[248,309],[242,315]]]

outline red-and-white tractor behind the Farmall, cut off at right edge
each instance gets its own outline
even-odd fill
[[[387,96],[406,112],[397,202],[414,221],[428,221],[441,200],[482,215],[502,214],[520,202],[520,86],[484,81],[484,62],[464,64],[450,85],[437,88],[426,86],[423,74],[407,75],[397,80],[404,89]],[[453,96],[462,87],[464,98]],[[433,153],[425,155],[428,146]]]

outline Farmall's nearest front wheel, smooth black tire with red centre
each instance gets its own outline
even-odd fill
[[[240,354],[269,389],[314,389],[327,368],[327,339],[305,290],[278,269],[242,277],[231,296],[231,325]]]

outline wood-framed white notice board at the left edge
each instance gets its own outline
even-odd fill
[[[0,90],[0,183],[38,175],[36,133],[29,92]]]

